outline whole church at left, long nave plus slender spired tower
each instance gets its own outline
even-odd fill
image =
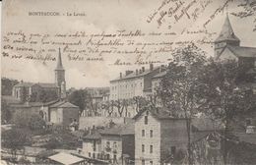
[[[21,102],[32,101],[41,92],[56,94],[59,98],[66,96],[65,70],[62,65],[61,54],[59,50],[57,67],[55,69],[55,83],[18,83],[14,85],[12,96]]]

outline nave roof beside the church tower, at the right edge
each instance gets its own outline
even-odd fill
[[[237,57],[256,58],[256,47],[227,45],[226,48],[228,48]]]

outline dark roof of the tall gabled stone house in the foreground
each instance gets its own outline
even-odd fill
[[[165,108],[155,108],[155,109],[147,109],[144,108],[143,110],[141,110],[139,113],[137,113],[137,115],[135,115],[133,117],[134,120],[138,119],[145,111],[149,111],[153,117],[155,117],[156,119],[159,120],[163,120],[163,119],[169,119],[169,120],[184,120],[185,118],[182,117],[173,117],[170,115],[169,110],[165,109]]]

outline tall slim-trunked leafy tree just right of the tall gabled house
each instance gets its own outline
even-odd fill
[[[186,119],[188,164],[191,165],[191,118],[204,104],[200,96],[203,86],[198,80],[205,70],[206,58],[194,44],[176,48],[172,57],[157,93],[172,116]]]

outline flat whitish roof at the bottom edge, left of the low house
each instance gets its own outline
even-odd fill
[[[57,153],[55,155],[49,156],[48,157],[51,160],[54,160],[56,162],[65,164],[65,165],[71,165],[71,164],[75,164],[75,163],[79,163],[84,161],[85,159],[80,158],[78,156],[74,156],[72,154],[68,154],[68,153]]]

